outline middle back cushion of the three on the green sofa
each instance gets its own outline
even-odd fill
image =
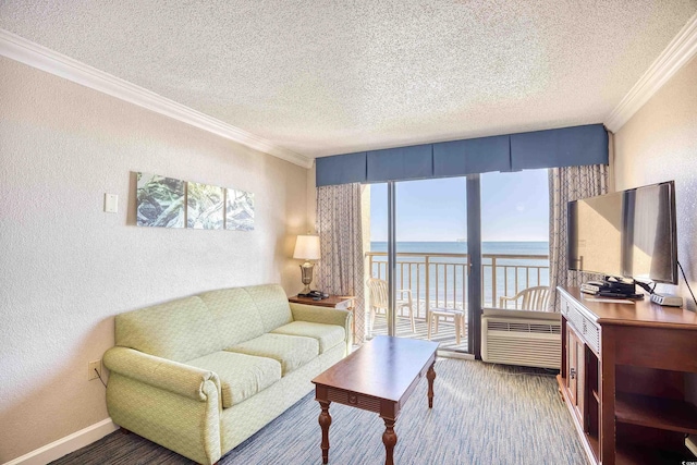
[[[209,291],[198,296],[206,304],[216,321],[221,341],[218,350],[264,334],[259,310],[244,287]]]

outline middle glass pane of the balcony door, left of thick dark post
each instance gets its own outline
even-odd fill
[[[394,184],[396,335],[467,352],[466,180]]]

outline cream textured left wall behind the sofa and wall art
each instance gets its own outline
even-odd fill
[[[210,289],[302,286],[307,170],[0,58],[0,463],[108,417],[87,362],[113,316]],[[254,232],[127,224],[145,171],[255,193]],[[102,212],[105,193],[119,213]]]

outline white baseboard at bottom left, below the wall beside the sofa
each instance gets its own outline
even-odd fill
[[[46,444],[35,451],[16,457],[10,462],[5,462],[3,465],[46,465],[49,462],[58,460],[63,455],[75,452],[85,445],[91,444],[95,441],[100,440],[105,436],[115,431],[119,427],[111,421],[111,418],[107,418],[99,423],[96,423],[80,431],[73,432],[70,436],[53,441],[50,444]]]

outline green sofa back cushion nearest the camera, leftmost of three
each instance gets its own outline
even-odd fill
[[[115,327],[117,345],[174,362],[200,357],[221,345],[216,321],[197,296],[117,315]]]

